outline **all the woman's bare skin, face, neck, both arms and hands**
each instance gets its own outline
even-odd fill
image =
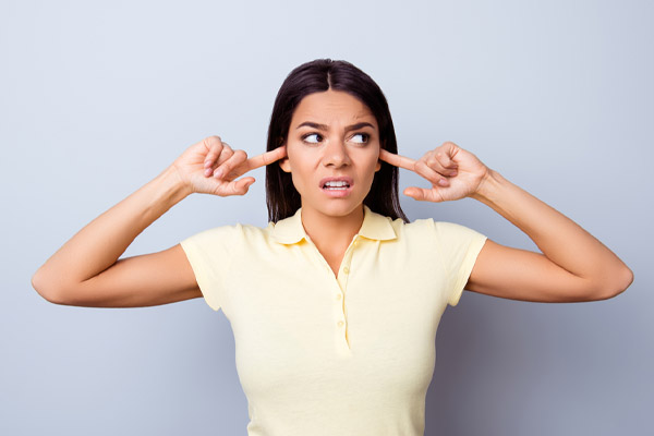
[[[305,121],[327,128],[298,129]],[[346,131],[359,122],[371,126]],[[53,303],[98,307],[149,306],[202,296],[179,244],[158,253],[119,257],[136,235],[187,195],[244,195],[255,179],[239,178],[271,164],[292,173],[302,196],[302,223],[338,271],[363,222],[362,202],[380,160],[425,179],[427,187],[410,186],[404,195],[428,202],[477,199],[525,232],[542,251],[487,240],[468,290],[513,300],[572,302],[608,299],[632,282],[631,270],[598,240],[473,154],[447,142],[414,160],[379,149],[377,132],[365,105],[346,93],[327,90],[300,102],[288,141],[276,150],[249,159],[245,152],[233,150],[220,137],[208,137],[71,238],[36,271],[33,286]],[[352,177],[350,195],[326,196],[318,182],[328,175]]]

